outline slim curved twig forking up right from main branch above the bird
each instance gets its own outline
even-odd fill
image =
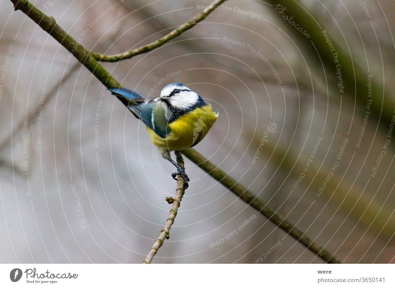
[[[115,55],[104,55],[104,54],[95,53],[95,52],[92,52],[92,54],[99,61],[117,62],[117,61],[120,61],[123,59],[129,59],[129,58],[136,56],[138,54],[146,53],[148,51],[151,51],[155,48],[162,46],[163,44],[170,41],[171,39],[177,37],[178,35],[184,33],[185,31],[191,29],[197,23],[199,23],[201,20],[206,18],[208,14],[210,14],[212,11],[214,11],[218,7],[218,5],[220,5],[222,2],[225,2],[225,1],[226,0],[215,0],[210,5],[208,5],[203,11],[198,13],[194,18],[185,22],[177,29],[174,29],[169,34],[167,34],[167,35],[159,38],[158,40],[156,40],[150,44],[147,44],[145,46],[142,46],[142,47],[139,47],[139,48],[136,48],[133,50],[129,50],[129,51],[126,51],[123,53],[115,54]]]

